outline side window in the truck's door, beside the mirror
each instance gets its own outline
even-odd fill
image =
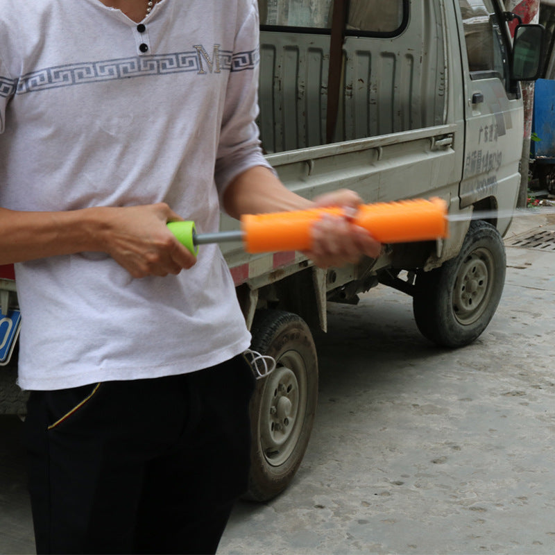
[[[459,0],[472,79],[498,77],[507,83],[506,46],[491,0]]]

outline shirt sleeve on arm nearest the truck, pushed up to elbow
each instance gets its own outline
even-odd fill
[[[270,164],[262,155],[258,115],[259,15],[251,0],[247,16],[235,40],[230,78],[225,96],[220,142],[216,155],[215,179],[220,198],[240,173]]]

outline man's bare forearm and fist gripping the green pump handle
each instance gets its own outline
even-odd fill
[[[196,262],[167,228],[180,219],[165,203],[68,212],[0,209],[0,264],[97,251],[134,278],[178,274]]]

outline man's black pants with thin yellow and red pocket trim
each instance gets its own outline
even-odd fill
[[[26,444],[38,553],[215,553],[247,488],[242,357],[180,376],[34,391]]]

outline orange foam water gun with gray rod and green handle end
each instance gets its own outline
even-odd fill
[[[168,227],[194,254],[198,245],[226,241],[242,241],[248,253],[275,253],[310,250],[311,225],[324,214],[345,217],[382,244],[432,241],[447,237],[449,227],[447,203],[441,198],[360,205],[353,215],[339,207],[246,214],[241,217],[241,230],[230,232],[197,234],[192,221],[170,222]]]

